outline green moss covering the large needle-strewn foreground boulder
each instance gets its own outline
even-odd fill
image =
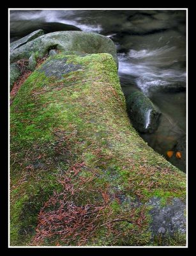
[[[62,175],[68,175],[73,186],[89,180],[73,198],[77,205],[103,204],[107,195],[108,208],[100,223],[119,214],[125,218],[134,209],[116,199],[121,195],[142,204],[151,196],[160,196],[163,202],[173,196],[184,199],[185,174],[149,148],[130,124],[112,56],[57,54],[51,58],[66,59],[82,70],[55,79],[40,72],[43,63],[11,105],[11,245],[30,243],[44,202],[54,190],[63,189]],[[72,169],[77,163],[86,166],[78,176]],[[148,209],[136,208],[133,220],[147,216]],[[142,225],[116,222],[112,232],[102,226],[88,243],[149,244],[148,217]],[[105,228],[109,235],[103,239]],[[116,241],[117,232],[122,233]],[[56,241],[57,237],[45,240],[45,245]]]

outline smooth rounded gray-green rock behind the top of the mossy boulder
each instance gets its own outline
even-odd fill
[[[33,52],[42,57],[52,48],[59,51],[79,51],[90,54],[105,52],[112,54],[117,62],[116,46],[110,38],[82,31],[60,31],[39,36],[11,51],[10,62],[29,58]]]

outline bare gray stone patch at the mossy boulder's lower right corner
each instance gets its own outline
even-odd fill
[[[174,235],[175,232],[186,232],[186,204],[179,198],[173,198],[171,204],[161,205],[161,199],[153,197],[149,204],[153,208],[149,211],[152,221],[150,229],[155,236],[158,234]]]

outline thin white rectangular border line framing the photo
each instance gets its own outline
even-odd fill
[[[186,10],[186,246],[10,246],[10,10]],[[188,8],[8,8],[8,248],[188,248]]]

